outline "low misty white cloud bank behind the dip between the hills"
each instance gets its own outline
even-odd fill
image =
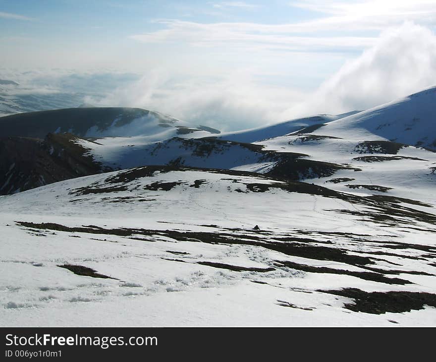
[[[163,69],[156,69],[130,87],[118,88],[102,100],[88,97],[86,102],[146,108],[193,125],[235,130],[280,120],[280,113],[290,100],[301,102],[304,99],[303,92],[261,85],[249,75],[178,79]]]

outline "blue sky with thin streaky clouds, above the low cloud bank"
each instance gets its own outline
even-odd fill
[[[141,62],[146,68],[172,53],[188,63],[203,59],[202,66],[214,57],[217,68],[232,57],[230,68],[236,69],[247,58],[261,57],[259,62],[276,67],[276,57],[318,53],[333,70],[372,45],[384,27],[407,19],[427,21],[414,14],[423,6],[419,2],[390,19],[397,2],[388,2],[384,14],[374,16],[380,12],[377,1],[369,2],[359,9],[362,16],[347,21],[353,1],[0,0],[0,41],[8,53],[3,63],[18,66],[141,71]],[[129,59],[122,59],[126,53]],[[310,60],[307,65],[307,74],[316,78]],[[318,78],[328,73],[323,68]]]

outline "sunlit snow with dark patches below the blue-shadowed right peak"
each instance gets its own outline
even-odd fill
[[[372,138],[375,138],[374,136]],[[430,200],[436,204],[436,153],[389,141],[357,141],[298,134],[262,143],[266,151],[309,155],[308,160],[346,165],[327,177],[304,179],[338,191]]]

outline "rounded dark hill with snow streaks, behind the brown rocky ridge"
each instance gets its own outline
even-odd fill
[[[161,113],[140,108],[80,107],[0,117],[2,136],[44,138],[48,133],[65,132],[79,137],[146,136],[149,141],[161,141],[193,132],[208,136],[219,133],[219,130],[191,126]]]

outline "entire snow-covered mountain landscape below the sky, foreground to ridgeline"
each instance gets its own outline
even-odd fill
[[[436,325],[435,90],[222,135],[139,109],[0,118],[0,319]]]

